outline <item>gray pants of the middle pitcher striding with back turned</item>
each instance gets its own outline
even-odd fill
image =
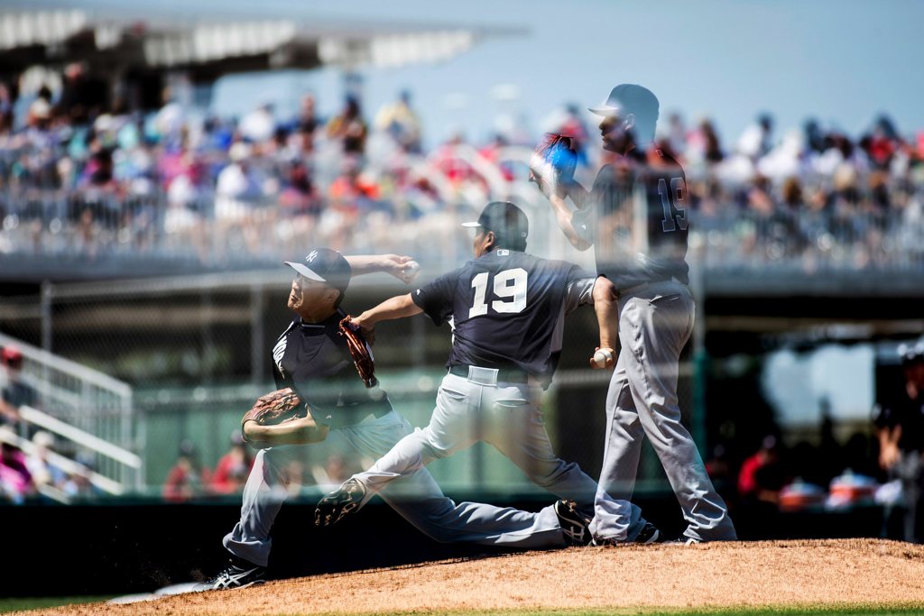
[[[354,477],[375,492],[398,477],[420,472],[433,460],[485,441],[533,483],[559,498],[576,501],[590,518],[597,484],[578,465],[566,463],[553,452],[540,402],[538,384],[498,382],[497,370],[469,368],[468,379],[447,374],[436,395],[430,424],[415,429],[368,471]],[[630,504],[629,509],[636,522],[633,530],[638,532],[645,522],[638,507]]]

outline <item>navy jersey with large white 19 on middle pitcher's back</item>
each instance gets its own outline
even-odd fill
[[[520,368],[547,384],[561,353],[562,317],[592,303],[596,278],[565,261],[495,249],[411,297],[436,325],[451,320],[447,368]]]

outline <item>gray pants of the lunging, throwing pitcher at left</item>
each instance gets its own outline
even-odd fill
[[[336,431],[358,457],[376,459],[388,453],[410,429],[407,419],[392,411]],[[289,461],[298,457],[303,446],[273,447],[257,453],[244,487],[240,521],[223,541],[232,554],[263,566],[268,562],[273,544],[270,529],[287,495],[281,472]],[[529,550],[565,546],[552,506],[540,513],[529,513],[480,502],[456,504],[444,495],[426,469],[400,477],[381,496],[411,525],[436,541],[467,541]]]

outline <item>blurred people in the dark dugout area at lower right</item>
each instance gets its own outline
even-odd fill
[[[766,522],[774,513],[881,506],[883,537],[924,543],[924,338],[900,344],[898,356],[900,375],[877,382],[871,424],[855,425],[846,440],[822,399],[817,434],[790,434],[790,446],[777,427],[751,449],[744,439],[717,444],[706,467],[736,512]]]

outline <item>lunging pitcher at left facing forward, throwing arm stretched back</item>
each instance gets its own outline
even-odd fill
[[[408,272],[415,270],[409,258],[345,258],[318,248],[286,265],[295,271],[287,305],[296,318],[273,347],[279,390],[262,396],[243,417],[245,439],[262,449],[244,488],[240,520],[223,541],[231,562],[199,590],[250,586],[266,579],[270,529],[287,496],[284,469],[299,456],[299,445],[324,441],[335,430],[358,459],[375,459],[411,432],[375,386],[371,358],[355,356],[366,345],[351,342],[340,308],[351,276],[389,272],[409,282]],[[527,513],[475,502],[456,504],[426,471],[402,478],[382,498],[437,541],[527,549],[566,545],[553,505]]]

